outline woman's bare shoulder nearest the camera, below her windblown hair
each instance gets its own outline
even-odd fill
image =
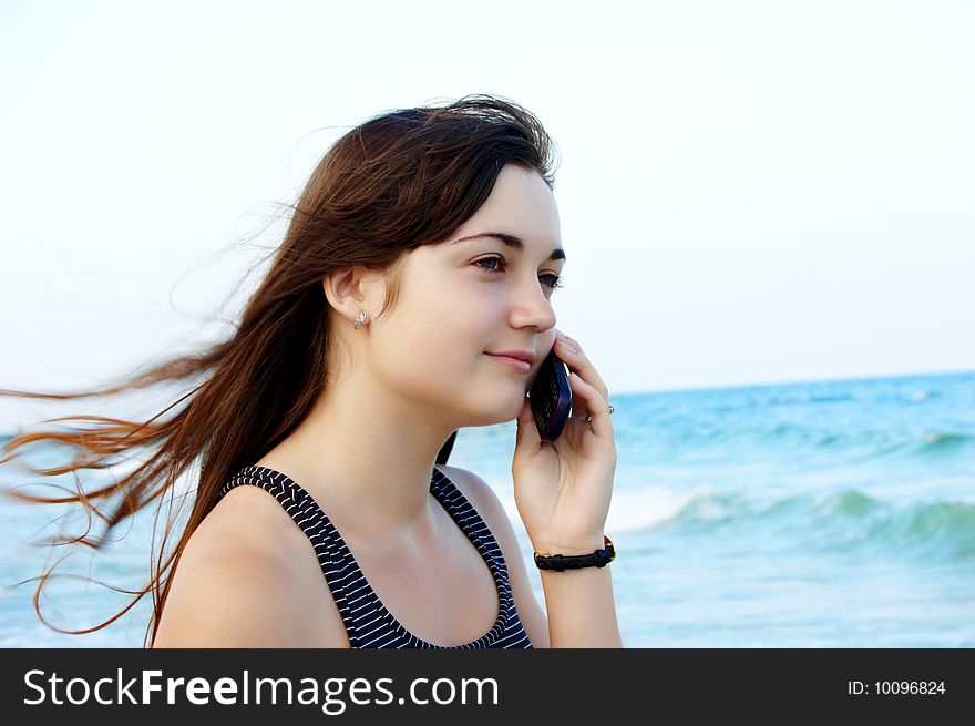
[[[153,647],[349,647],[311,543],[259,487],[227,492],[171,577]]]

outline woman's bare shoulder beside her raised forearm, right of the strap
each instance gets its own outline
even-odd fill
[[[501,503],[494,489],[481,477],[447,464],[437,464],[440,470],[456,485],[460,492],[478,510],[478,513],[494,534],[497,546],[507,565],[511,594],[514,597],[515,609],[522,620],[525,632],[534,647],[550,647],[548,621],[528,581],[528,573],[522,559],[521,546],[515,534],[514,526],[507,515],[507,510]]]

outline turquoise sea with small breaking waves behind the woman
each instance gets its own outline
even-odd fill
[[[975,371],[610,402],[606,533],[624,647],[975,647]],[[514,504],[514,421],[462,429],[449,463],[501,498],[544,607]],[[29,461],[64,456],[38,446]],[[8,469],[4,488],[47,481]],[[98,553],[39,546],[76,517],[59,507],[0,503],[0,646],[142,647],[148,595],[89,634],[38,616],[37,577],[62,559],[37,603],[62,630],[112,617],[148,572],[151,519],[120,525]]]

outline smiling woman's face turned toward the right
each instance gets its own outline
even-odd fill
[[[509,235],[511,244],[462,239],[486,233]],[[453,235],[407,255],[394,309],[370,324],[376,372],[462,426],[514,419],[555,342],[552,285],[565,264],[561,247],[552,191],[537,172],[505,165]],[[528,351],[535,360],[522,372],[488,355],[503,350]]]

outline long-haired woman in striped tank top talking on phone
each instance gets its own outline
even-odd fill
[[[352,129],[312,173],[236,335],[153,371],[207,371],[187,407],[103,429],[124,443],[79,434],[99,453],[163,442],[85,494],[134,494],[113,524],[172,495],[202,458],[187,525],[151,583],[153,647],[620,645],[608,566],[542,570],[546,617],[492,489],[437,462],[458,429],[516,419],[511,470],[534,550],[604,551],[612,409],[554,327],[565,255],[550,164],[537,120],[493,96]],[[574,374],[573,416],[550,443],[526,392],[553,346]]]

